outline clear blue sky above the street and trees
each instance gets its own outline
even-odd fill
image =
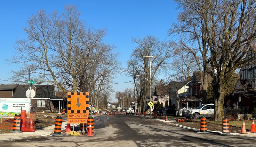
[[[44,1],[1,1],[0,2],[0,72],[1,80],[9,80],[11,70],[16,70],[17,65],[10,64],[9,59],[15,52],[15,40],[24,39],[26,34],[23,28],[26,27],[28,17],[36,14],[37,10],[44,9],[48,13],[52,10],[63,11],[63,6],[74,4],[81,11],[81,19],[87,25],[95,29],[107,28],[108,36],[105,42],[116,46],[120,52],[118,60],[125,67],[130,54],[136,44],[131,42],[132,37],[154,35],[163,40],[168,35],[168,29],[172,22],[177,20],[177,4],[172,0],[44,0]],[[168,37],[166,40],[172,38]],[[161,76],[159,76],[161,78]],[[164,77],[163,77],[164,78]],[[131,81],[125,75],[117,75],[115,82]],[[0,84],[10,82],[0,81]],[[131,82],[132,83],[132,82]],[[132,84],[113,85],[114,100],[115,91],[122,91],[125,88],[132,88]]]

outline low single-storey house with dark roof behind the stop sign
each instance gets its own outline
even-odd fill
[[[31,87],[35,91],[35,97],[31,98],[30,104],[35,106],[36,111],[52,111],[56,109],[61,111],[65,107],[66,99],[56,96],[56,91],[53,85],[34,85]],[[26,91],[29,85],[17,84],[1,84],[0,98],[27,98]]]

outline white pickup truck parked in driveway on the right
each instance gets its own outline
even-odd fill
[[[187,110],[186,117],[193,117],[193,119],[199,119],[201,116],[213,116],[214,104],[201,105],[195,109]]]

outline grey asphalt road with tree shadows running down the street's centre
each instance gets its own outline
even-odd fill
[[[126,115],[98,116],[95,136],[51,136],[1,142],[8,147],[135,147],[135,146],[256,146],[256,138],[199,134],[147,118]]]

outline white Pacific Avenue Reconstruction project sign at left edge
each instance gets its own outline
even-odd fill
[[[29,98],[0,98],[0,117],[14,116],[21,109],[28,112],[29,107]]]

